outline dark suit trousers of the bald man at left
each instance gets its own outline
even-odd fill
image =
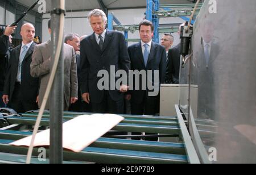
[[[36,102],[31,102],[31,101],[22,99],[22,92],[20,90],[20,85],[17,83],[15,84],[15,87],[14,87],[13,97],[11,98],[7,107],[15,110],[17,113],[26,113],[27,111],[38,109],[38,105],[36,105]]]

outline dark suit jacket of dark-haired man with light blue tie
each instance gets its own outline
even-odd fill
[[[131,45],[128,48],[129,56],[131,59],[131,70],[152,70],[152,82],[154,84],[154,70],[159,70],[159,82],[158,85],[164,84],[165,75],[166,75],[166,50],[162,45],[152,42],[150,56],[148,58],[147,67],[144,65],[144,59],[142,54],[141,42]],[[140,85],[142,86],[142,79],[139,79]],[[135,80],[134,80],[135,85]],[[129,90],[131,94],[131,101],[135,103],[142,103],[144,99],[144,94],[148,95],[148,89],[142,90]],[[160,90],[160,89],[159,89]]]

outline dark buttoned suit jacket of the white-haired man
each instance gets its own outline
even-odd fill
[[[121,32],[106,31],[104,47],[101,51],[97,44],[94,33],[84,40],[80,45],[81,52],[81,90],[82,93],[90,93],[90,100],[93,103],[100,103],[104,98],[104,91],[97,87],[102,77],[97,77],[100,70],[106,70],[110,77],[110,66],[117,70],[125,70],[128,74],[130,59],[127,52],[125,37]],[[118,77],[115,78],[115,81]],[[109,89],[110,89],[109,81]],[[109,90],[110,97],[114,101],[123,99],[123,93],[119,89]]]

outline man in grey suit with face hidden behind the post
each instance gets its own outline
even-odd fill
[[[48,22],[48,30],[51,33],[51,20]],[[35,47],[31,62],[31,76],[39,77],[41,80],[39,91],[39,106],[42,105],[44,94],[46,93],[47,84],[51,71],[51,40],[46,43],[39,44]],[[77,101],[77,68],[76,68],[76,54],[68,44],[63,45],[64,56],[64,111],[68,111],[71,104]],[[49,109],[49,103],[46,105]]]

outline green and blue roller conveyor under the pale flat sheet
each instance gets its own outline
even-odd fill
[[[86,113],[64,113],[64,122]],[[88,115],[88,114],[87,114]],[[6,127],[0,129],[0,162],[25,163],[26,147],[10,145],[15,140],[22,139],[32,134],[32,126],[35,124],[38,111],[30,111],[26,114],[6,115]],[[95,141],[80,153],[64,151],[64,163],[200,163],[199,157],[193,147],[191,138],[183,117],[155,117],[123,115],[125,120],[115,126],[108,134]],[[40,130],[49,126],[49,111],[43,115]],[[125,132],[150,132],[159,134],[159,137],[176,137],[175,143],[129,140],[115,136],[117,131]],[[114,134],[114,135],[113,135]],[[86,137],[86,135],[85,135]],[[120,137],[120,136],[119,136]],[[8,155],[6,155],[8,153]],[[48,154],[48,151],[47,151]],[[38,148],[34,148],[32,163],[40,162]],[[14,159],[18,157],[18,159]],[[48,156],[47,156],[48,157]]]

